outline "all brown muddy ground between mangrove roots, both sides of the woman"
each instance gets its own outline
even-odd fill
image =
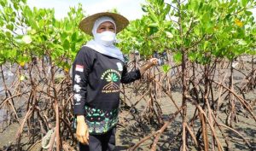
[[[241,74],[236,73],[236,76],[234,77],[235,82],[239,82],[241,80]],[[2,79],[0,78],[0,83]],[[0,85],[0,91],[3,90],[3,85]],[[131,106],[134,102],[136,102],[141,95],[137,93],[137,90],[134,91],[134,89],[131,87],[131,85],[128,85],[126,88],[126,96],[130,101],[126,99],[126,105]],[[167,97],[165,94],[160,93],[161,96],[157,96],[157,102],[159,102],[160,107],[162,109],[162,116],[168,117],[170,114],[177,111],[176,107],[174,107],[173,103],[171,102],[170,98]],[[241,94],[240,94],[241,95]],[[250,91],[246,94],[244,94],[247,98],[247,100],[251,100],[252,106],[253,106],[253,113],[256,114],[256,106],[255,106],[255,98],[256,98],[256,90]],[[0,98],[1,101],[3,100],[3,91],[0,92]],[[175,101],[177,102],[177,105],[180,107],[182,102],[182,92],[180,88],[172,89],[172,96],[175,98]],[[122,95],[121,95],[122,97]],[[224,99],[224,98],[223,98]],[[136,106],[137,110],[131,109],[129,107],[126,107],[124,104],[121,104],[121,112],[119,113],[119,125],[117,129],[117,136],[116,136],[116,143],[117,143],[117,151],[121,150],[127,150],[127,148],[131,148],[133,145],[137,144],[144,136],[148,136],[154,131],[157,131],[159,127],[157,127],[154,123],[152,125],[148,125],[147,122],[139,122],[139,119],[141,119],[141,113],[143,113],[143,110],[148,105],[148,97],[146,97],[145,100],[139,102]],[[254,101],[254,102],[253,102]],[[22,101],[20,101],[20,104],[15,104],[18,108],[19,116],[24,116],[24,104]],[[189,119],[193,116],[195,112],[195,107],[191,103],[188,103],[188,115]],[[11,144],[15,143],[15,135],[16,131],[19,128],[19,124],[15,121],[12,121],[8,126],[7,121],[4,121],[4,113],[3,109],[0,109],[0,150],[4,150],[9,148],[11,150]],[[218,113],[219,121],[225,122],[225,119],[227,117],[224,108],[222,108]],[[238,113],[238,123],[234,123],[234,129],[236,131],[239,131],[242,136],[244,136],[248,142],[252,145],[253,150],[256,150],[256,122],[251,118],[250,116],[247,116],[247,113]],[[22,118],[20,118],[22,119]],[[180,148],[180,142],[181,142],[181,135],[177,135],[181,131],[181,122],[182,118],[180,115],[177,116],[176,119],[172,121],[170,125],[168,125],[168,128],[164,133],[160,136],[160,140],[158,142],[157,150],[160,151],[169,151],[169,150],[179,150]],[[200,125],[199,121],[198,123],[195,122],[195,130],[197,130],[197,127]],[[249,150],[246,143],[243,142],[241,139],[241,136],[236,135],[233,131],[226,130],[227,136],[229,136],[230,140],[230,150],[241,150],[246,151]],[[209,134],[209,140],[211,142],[211,132],[208,132]],[[23,142],[23,149],[27,150],[27,137],[26,132],[24,133],[24,136],[21,142]],[[223,136],[218,133],[218,138],[220,139],[221,143],[224,145],[225,148],[225,142]],[[190,140],[190,139],[189,139]],[[137,150],[150,150],[150,145],[154,141],[154,137],[151,139],[148,139],[148,141],[143,142]],[[189,150],[196,150],[191,141],[189,141]],[[211,145],[211,144],[210,144]],[[31,150],[40,150],[40,142],[38,145],[36,145]]]

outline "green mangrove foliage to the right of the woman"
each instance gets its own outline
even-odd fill
[[[253,0],[189,0],[164,3],[147,0],[142,9],[146,15],[131,21],[119,46],[137,49],[141,55],[156,50],[171,50],[177,63],[184,49],[190,61],[206,64],[215,57],[232,60],[238,55],[255,54],[255,20],[249,9]]]

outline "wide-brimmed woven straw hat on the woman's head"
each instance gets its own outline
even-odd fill
[[[90,36],[93,36],[91,31],[94,26],[94,23],[98,18],[100,18],[102,16],[108,16],[114,20],[117,33],[121,32],[125,28],[125,26],[127,26],[129,24],[129,20],[127,20],[122,15],[115,14],[115,13],[109,13],[109,12],[103,12],[103,13],[97,13],[95,15],[90,15],[90,16],[84,18],[84,20],[82,20],[79,23],[79,28],[83,32],[89,34]]]

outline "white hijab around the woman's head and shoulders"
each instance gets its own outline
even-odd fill
[[[114,27],[115,27],[115,29],[116,29],[116,25],[115,25],[115,23],[114,23],[112,18],[110,18],[108,16],[102,16],[102,17],[98,18],[95,21],[94,26],[92,28],[92,34],[93,34],[94,38],[96,38],[96,30],[97,30],[97,28],[103,22],[106,22],[106,21],[112,22]],[[93,40],[90,40],[89,42],[87,42],[87,44],[85,44],[84,46],[87,46],[87,47],[89,47],[91,49],[95,49],[97,52],[99,52],[99,53],[101,53],[103,55],[112,56],[113,58],[117,58],[120,61],[125,61],[124,60],[124,56],[123,56],[122,52],[120,51],[120,49],[116,48],[114,45],[105,46],[105,45],[97,43],[96,40],[93,39]]]

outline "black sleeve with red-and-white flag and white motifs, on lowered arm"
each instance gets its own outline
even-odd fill
[[[73,61],[73,112],[75,115],[85,114],[86,87],[91,68],[91,56],[86,49],[80,49]]]

